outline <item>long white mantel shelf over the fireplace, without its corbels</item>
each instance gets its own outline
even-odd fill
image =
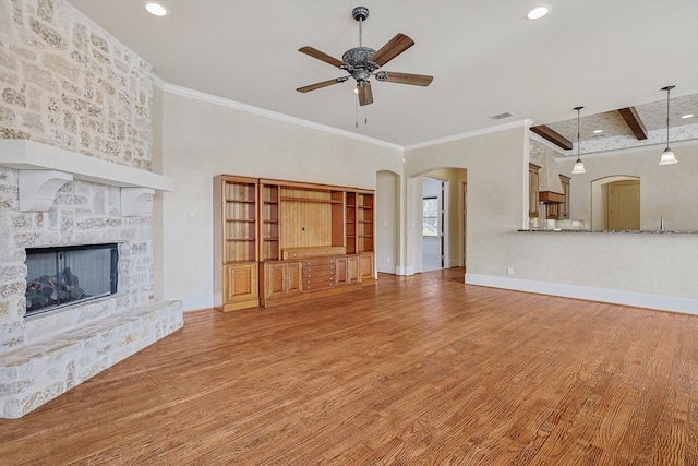
[[[169,177],[103,160],[31,140],[0,140],[0,166],[19,170],[56,170],[76,180],[120,188],[172,191]]]

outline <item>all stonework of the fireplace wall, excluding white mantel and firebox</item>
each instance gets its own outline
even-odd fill
[[[149,171],[153,85],[149,64],[64,0],[0,0],[0,139]],[[49,211],[21,212],[19,170],[0,166],[0,417],[181,327],[181,303],[153,302],[152,212],[120,208],[119,188],[76,180]],[[117,295],[24,318],[25,248],[103,242],[119,243]]]

